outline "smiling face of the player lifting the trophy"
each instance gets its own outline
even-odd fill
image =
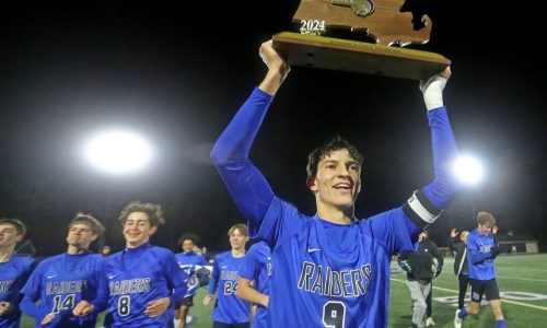
[[[347,149],[331,151],[317,164],[307,186],[315,194],[317,208],[352,209],[361,191],[361,167]]]

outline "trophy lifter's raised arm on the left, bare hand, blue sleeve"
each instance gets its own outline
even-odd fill
[[[255,234],[274,199],[261,173],[248,160],[248,152],[272,96],[289,73],[289,66],[272,48],[271,40],[260,46],[260,57],[268,72],[217,140],[211,160],[217,166],[240,211]]]

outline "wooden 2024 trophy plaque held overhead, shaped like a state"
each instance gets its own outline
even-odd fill
[[[290,65],[424,80],[451,65],[442,55],[407,49],[426,44],[431,20],[423,15],[420,30],[412,14],[400,12],[405,0],[301,0],[293,21],[301,33],[274,35],[274,48]],[[375,43],[321,36],[326,28],[364,32]]]

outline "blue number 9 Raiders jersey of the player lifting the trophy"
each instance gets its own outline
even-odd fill
[[[249,234],[272,249],[268,327],[386,327],[392,256],[415,249],[461,187],[451,173],[457,149],[446,109],[428,112],[434,180],[403,207],[338,225],[276,197],[248,160],[271,99],[255,89],[211,152]]]

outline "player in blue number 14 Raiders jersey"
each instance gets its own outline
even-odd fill
[[[21,309],[35,327],[95,327],[97,314],[106,308],[103,257],[90,251],[103,224],[78,213],[68,229],[67,253],[42,261],[22,290]]]

